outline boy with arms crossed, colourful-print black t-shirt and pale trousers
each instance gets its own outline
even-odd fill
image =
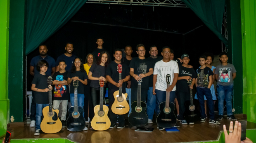
[[[53,91],[53,105],[52,108],[59,109],[60,103],[62,103],[62,128],[66,127],[66,112],[69,100],[69,87],[67,86],[68,80],[68,72],[65,70],[66,68],[66,61],[59,60],[58,68],[60,69],[56,73],[54,73],[52,80],[55,85]]]

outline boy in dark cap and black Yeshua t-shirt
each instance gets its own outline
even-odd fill
[[[180,123],[187,124],[184,119],[185,113],[185,101],[190,100],[190,89],[193,89],[195,78],[197,77],[196,72],[193,68],[189,68],[188,63],[190,61],[189,56],[187,54],[183,54],[181,56],[183,60],[183,64],[179,65],[179,77],[176,83],[176,95],[179,103],[179,111],[180,111]],[[192,85],[188,86],[188,80],[192,79]],[[190,122],[189,124],[194,124],[194,122]]]

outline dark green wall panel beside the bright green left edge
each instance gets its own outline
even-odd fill
[[[8,95],[14,122],[23,122],[25,116],[25,1],[10,0]]]

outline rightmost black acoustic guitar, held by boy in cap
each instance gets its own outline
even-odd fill
[[[190,79],[187,82],[190,85],[192,85],[192,79]],[[190,89],[190,100],[185,101],[185,113],[184,113],[184,118],[187,121],[187,124],[189,124],[189,122],[196,122],[199,120],[200,118],[200,112],[198,109],[198,105],[195,104],[193,102],[193,93],[192,93],[192,89]]]

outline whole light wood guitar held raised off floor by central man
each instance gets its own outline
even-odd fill
[[[122,65],[117,66],[117,71],[119,72],[119,80],[122,80]],[[115,98],[114,103],[112,104],[111,110],[117,115],[123,115],[129,112],[130,106],[126,101],[127,93],[123,94],[122,87],[119,87],[118,91],[115,91],[113,96]]]

